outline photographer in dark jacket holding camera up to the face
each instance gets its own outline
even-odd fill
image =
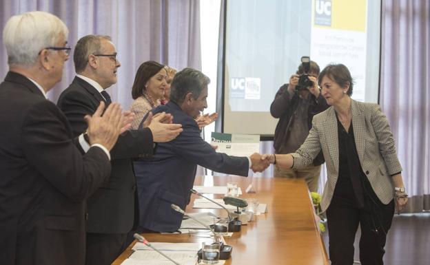
[[[289,83],[282,85],[272,105],[270,113],[279,118],[274,136],[275,153],[291,153],[305,142],[311,129],[314,115],[329,107],[318,87],[320,67],[303,56],[296,74],[291,75]],[[309,165],[303,169],[280,169],[275,167],[276,178],[305,178],[310,191],[317,191],[323,153],[319,153]]]

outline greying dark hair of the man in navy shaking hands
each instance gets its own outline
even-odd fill
[[[204,87],[209,85],[210,79],[202,72],[187,67],[175,74],[170,87],[170,100],[181,104],[188,93],[192,93],[193,98],[200,96]]]

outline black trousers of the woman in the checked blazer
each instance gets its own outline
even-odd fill
[[[385,253],[385,240],[393,215],[394,200],[389,204],[382,204],[371,188],[365,192],[363,208],[357,207],[354,192],[351,190],[343,193],[335,191],[327,209],[331,265],[354,263],[354,240],[358,224],[361,229],[361,264],[384,264],[382,257]]]

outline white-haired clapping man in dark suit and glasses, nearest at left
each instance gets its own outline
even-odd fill
[[[85,198],[110,175],[110,149],[130,127],[121,107],[86,116],[81,154],[65,116],[45,94],[68,60],[68,28],[52,14],[11,17],[3,30],[10,71],[0,84],[1,264],[83,264]]]

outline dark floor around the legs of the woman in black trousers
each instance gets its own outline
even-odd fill
[[[323,233],[327,253],[329,251],[328,233]],[[354,260],[359,261],[356,235]],[[355,263],[354,263],[355,264]],[[357,263],[358,264],[358,263]],[[429,265],[430,264],[430,213],[396,215],[387,236],[385,245],[385,265]]]

